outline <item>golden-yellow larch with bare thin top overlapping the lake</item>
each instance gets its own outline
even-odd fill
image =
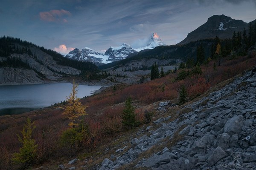
[[[88,106],[82,105],[79,100],[80,98],[76,97],[78,84],[75,84],[73,81],[72,92],[70,93],[69,97],[67,97],[67,106],[64,109],[63,115],[67,116],[71,120],[69,123],[70,127],[76,127],[78,123],[76,121],[79,120],[80,116],[87,115],[85,109]]]

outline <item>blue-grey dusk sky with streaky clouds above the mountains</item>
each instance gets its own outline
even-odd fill
[[[105,52],[122,43],[145,46],[154,32],[166,45],[177,44],[221,14],[249,23],[256,0],[0,0],[0,36],[62,54]]]

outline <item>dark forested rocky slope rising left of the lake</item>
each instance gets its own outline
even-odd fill
[[[12,37],[0,38],[0,64],[0,84],[56,81],[66,75],[97,70],[93,63],[70,60],[55,51]]]

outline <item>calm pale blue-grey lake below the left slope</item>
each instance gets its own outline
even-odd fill
[[[101,86],[79,85],[77,97],[91,95]],[[13,115],[66,100],[72,90],[70,83],[0,86],[0,115]]]

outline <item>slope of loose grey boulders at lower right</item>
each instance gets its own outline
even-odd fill
[[[256,68],[186,105],[183,109],[191,111],[174,121],[170,121],[172,116],[154,121],[159,128],[147,127],[138,135],[146,132],[150,135],[131,139],[131,145],[116,150],[116,155],[105,158],[97,169],[114,170],[137,162],[134,168],[152,170],[256,170],[255,72]],[[167,101],[160,103],[158,109],[165,112],[173,106]],[[164,146],[177,135],[183,136],[183,140],[149,158],[137,160],[140,154],[153,146]]]

